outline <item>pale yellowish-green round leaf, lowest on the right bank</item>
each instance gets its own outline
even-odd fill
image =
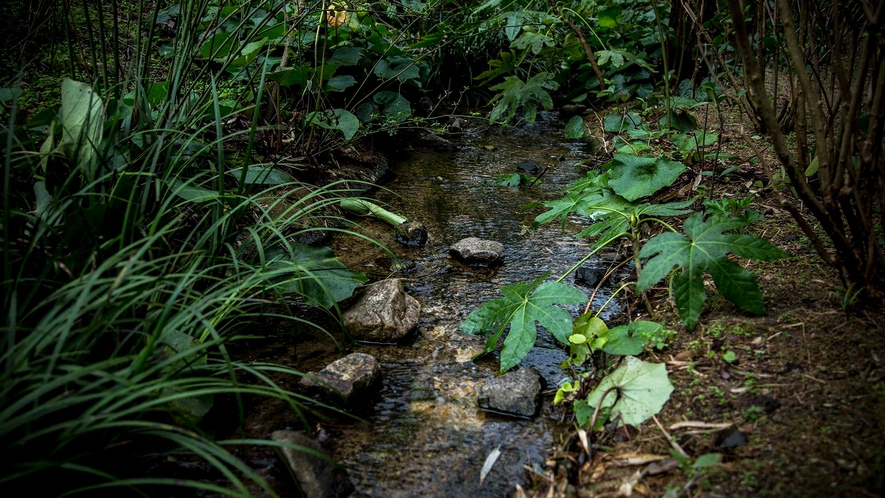
[[[611,409],[610,420],[618,418],[619,425],[636,427],[660,412],[672,392],[673,385],[663,363],[645,363],[628,356],[587,396],[587,405],[595,408],[602,400],[602,406]]]

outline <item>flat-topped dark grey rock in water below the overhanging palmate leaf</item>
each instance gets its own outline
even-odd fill
[[[520,368],[486,381],[479,387],[477,402],[484,410],[531,417],[538,412],[542,388],[537,370]]]

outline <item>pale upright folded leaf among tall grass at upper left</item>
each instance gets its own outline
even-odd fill
[[[104,105],[89,85],[65,78],[61,83],[61,109],[59,146],[76,161],[86,179],[92,181],[98,168]]]

